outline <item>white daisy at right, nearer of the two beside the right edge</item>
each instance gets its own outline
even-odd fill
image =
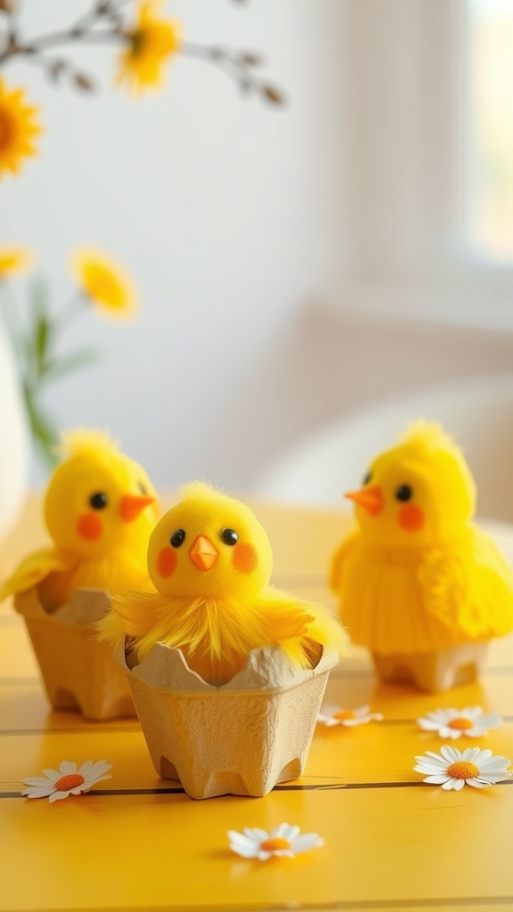
[[[492,751],[481,751],[478,747],[467,747],[458,751],[449,744],[440,748],[440,753],[425,751],[421,757],[415,757],[415,772],[427,772],[424,782],[441,785],[445,791],[455,789],[459,792],[463,786],[474,785],[483,788],[493,785],[501,779],[508,779],[512,772],[507,772],[511,763],[506,757],[495,757]]]

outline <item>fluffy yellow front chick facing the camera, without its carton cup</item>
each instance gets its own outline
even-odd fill
[[[148,570],[158,595],[117,596],[117,617],[99,624],[110,642],[122,627],[138,660],[156,642],[180,648],[189,668],[219,686],[252,649],[280,646],[303,668],[317,663],[321,646],[346,651],[338,618],[268,586],[272,551],[255,514],[206,484],[185,487],[180,503],[162,516]]]

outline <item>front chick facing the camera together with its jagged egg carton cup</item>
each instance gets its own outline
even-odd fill
[[[340,621],[268,585],[257,517],[203,483],[155,527],[148,569],[157,594],[116,596],[99,629],[120,641],[157,772],[194,798],[261,795],[296,778],[347,651]]]

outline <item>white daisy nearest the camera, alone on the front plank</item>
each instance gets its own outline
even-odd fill
[[[300,852],[319,848],[324,845],[324,840],[317,833],[299,833],[298,826],[279,824],[274,830],[250,829],[246,826],[244,833],[228,830],[230,848],[243,858],[257,858],[267,861],[271,855],[284,855],[293,858]]]

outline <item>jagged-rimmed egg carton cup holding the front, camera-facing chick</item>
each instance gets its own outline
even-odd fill
[[[156,643],[125,669],[156,772],[182,782],[191,798],[260,797],[303,772],[334,649],[316,668],[297,668],[276,647],[255,649],[221,687],[188,668],[180,649]]]

